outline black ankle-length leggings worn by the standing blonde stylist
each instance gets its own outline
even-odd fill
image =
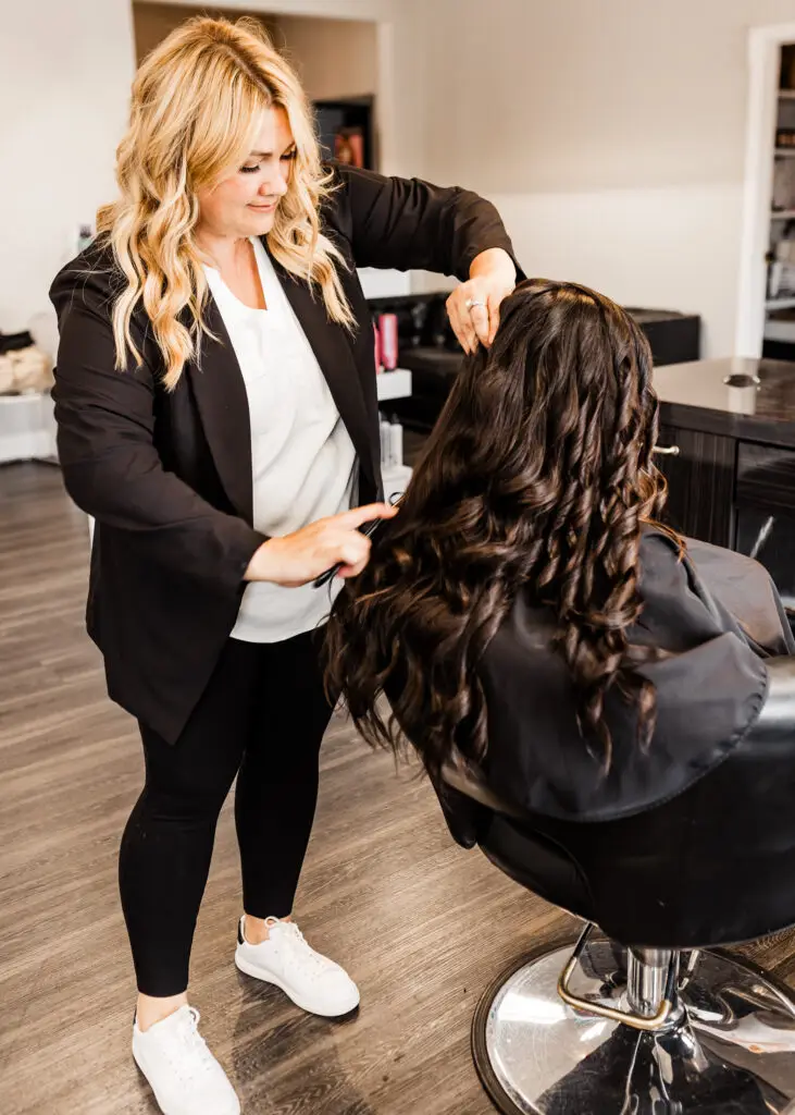
[[[216,822],[236,774],[243,908],[254,918],[292,911],[331,711],[316,634],[230,639],[175,745],[140,726],[146,784],[121,838],[119,886],[144,995],[188,986]]]

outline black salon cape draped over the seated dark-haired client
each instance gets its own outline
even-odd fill
[[[664,652],[639,668],[655,683],[657,723],[641,748],[635,711],[612,689],[607,773],[602,754],[578,730],[566,663],[549,647],[549,612],[520,594],[489,646],[480,670],[489,723],[483,769],[512,805],[593,822],[680,794],[755,723],[767,691],[765,658],[795,651],[771,578],[750,559],[693,541],[680,556],[667,534],[645,527],[639,563],[644,608],[628,634],[630,643]],[[455,796],[445,795],[446,814]]]

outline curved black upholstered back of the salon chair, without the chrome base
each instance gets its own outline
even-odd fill
[[[448,818],[517,882],[624,944],[728,944],[795,924],[795,658],[767,669],[754,728],[669,802],[585,824],[520,815],[458,766],[444,772]]]

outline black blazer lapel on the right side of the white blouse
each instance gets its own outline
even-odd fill
[[[351,435],[360,463],[370,481],[377,486],[373,468],[370,419],[364,391],[345,330],[335,321],[328,320],[323,300],[320,295],[313,297],[307,283],[301,282],[288,271],[285,271],[273,256],[271,259],[282,283],[282,289],[301,322],[321,371],[328,384],[332,398]]]

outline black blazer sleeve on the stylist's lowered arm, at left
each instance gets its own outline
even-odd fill
[[[215,591],[237,591],[266,536],[203,500],[167,472],[154,443],[155,372],[119,371],[109,277],[73,264],[50,299],[60,341],[55,371],[58,457],[67,492],[98,523],[129,532],[148,560]],[[144,330],[134,339],[146,353]]]

